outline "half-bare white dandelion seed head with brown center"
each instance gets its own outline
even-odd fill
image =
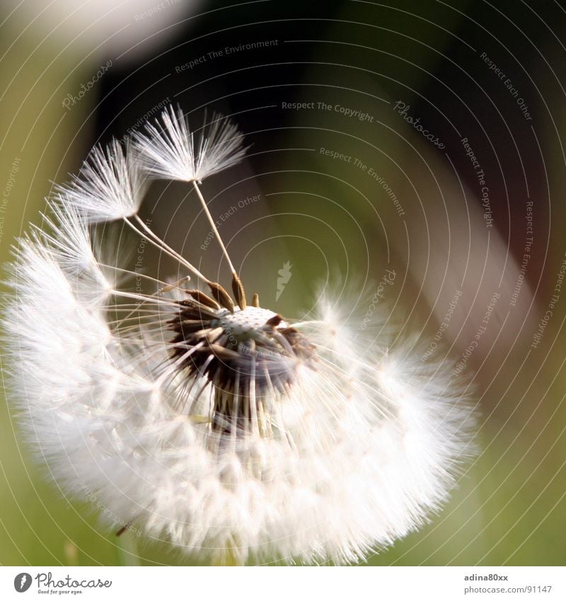
[[[362,321],[331,297],[308,321],[247,301],[199,188],[242,156],[219,116],[193,137],[171,110],[58,188],[11,264],[13,402],[59,486],[95,496],[118,532],[212,563],[362,561],[446,500],[470,454],[470,408],[438,365],[364,345]],[[190,182],[232,294],[138,217],[148,177]],[[182,280],[112,264],[91,230],[115,219]]]

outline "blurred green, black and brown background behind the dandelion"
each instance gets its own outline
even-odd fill
[[[394,271],[366,319],[384,311],[419,336],[415,362],[475,391],[480,454],[444,510],[369,565],[565,563],[563,3],[6,0],[0,34],[2,261],[96,142],[170,103],[197,124],[231,115],[248,159],[204,193],[231,212],[221,234],[246,287],[292,316],[316,282],[371,297]],[[186,186],[155,183],[143,214],[226,277]],[[7,401],[0,563],[197,561],[117,539],[64,496]]]

